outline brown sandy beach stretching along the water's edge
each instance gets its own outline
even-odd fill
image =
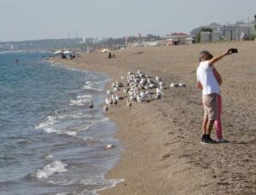
[[[237,48],[215,66],[223,77],[223,126],[226,144],[201,145],[201,91],[196,89],[198,54],[213,55]],[[210,43],[152,47],[85,54],[57,60],[68,66],[108,73],[113,80],[140,69],[150,76],[186,83],[166,89],[160,100],[125,100],[107,115],[118,125],[124,150],[107,179],[125,179],[100,194],[256,194],[256,42]],[[142,54],[137,54],[138,52]],[[215,138],[214,129],[212,137]]]

